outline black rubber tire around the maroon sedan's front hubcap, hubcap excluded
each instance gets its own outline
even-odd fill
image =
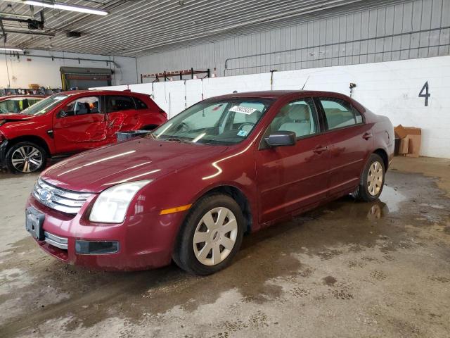
[[[231,213],[233,213],[237,222],[236,240],[234,242],[233,248],[230,250],[228,256],[226,256],[223,261],[216,265],[205,265],[204,263],[200,263],[197,256],[195,256],[193,243],[194,234],[199,226],[204,226],[200,225],[200,221],[202,221],[203,216],[205,216],[210,211],[213,211],[215,208],[226,208],[229,209]],[[178,237],[176,239],[173,259],[176,265],[193,275],[210,275],[212,273],[216,273],[217,271],[226,268],[226,266],[228,266],[233,260],[233,257],[236,256],[236,253],[239,251],[240,244],[242,244],[244,230],[244,216],[239,205],[234,199],[224,194],[212,194],[205,196],[197,203],[195,203],[193,208],[191,208],[190,213],[186,217],[186,220],[184,220],[183,225],[181,225]],[[210,230],[208,230],[208,232],[210,232]],[[213,237],[213,234],[214,233],[211,233],[211,238]],[[231,237],[231,232],[221,234],[221,236]],[[202,244],[199,243],[195,245],[201,246]],[[207,242],[205,242],[205,244],[203,245],[204,247],[207,246]],[[202,248],[200,247],[199,251],[201,251],[201,249]],[[221,247],[221,244],[219,244],[219,250],[221,249],[225,250],[225,247]],[[208,252],[211,253],[211,258],[209,259],[212,259],[212,249],[208,249]],[[210,255],[208,254],[208,256]]]

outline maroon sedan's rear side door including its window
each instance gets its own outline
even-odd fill
[[[316,104],[323,112],[330,139],[330,196],[345,194],[358,185],[361,170],[373,149],[371,125],[348,101],[319,97]]]

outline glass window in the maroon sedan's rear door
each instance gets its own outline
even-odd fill
[[[346,101],[323,97],[319,100],[321,101],[323,112],[325,113],[328,130],[363,123],[361,114]]]

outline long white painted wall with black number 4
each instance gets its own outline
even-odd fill
[[[269,90],[270,78],[270,73],[262,73],[134,84],[129,89],[153,95],[172,117],[203,98],[234,90]],[[347,95],[349,83],[356,83],[352,97],[368,109],[388,116],[394,125],[422,128],[421,156],[450,158],[450,56],[277,72],[272,89],[301,89],[306,81],[304,89]],[[431,96],[425,106],[418,94],[427,81]]]

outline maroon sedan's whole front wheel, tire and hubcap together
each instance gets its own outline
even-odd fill
[[[194,275],[225,268],[240,248],[244,217],[230,196],[213,194],[193,206],[181,227],[174,261]]]

